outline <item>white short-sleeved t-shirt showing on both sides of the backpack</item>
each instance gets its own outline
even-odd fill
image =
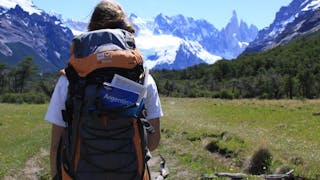
[[[154,119],[163,116],[160,98],[156,83],[151,75],[147,79],[147,97],[145,98],[145,107],[147,111],[146,119]],[[50,104],[45,116],[45,119],[57,126],[65,127],[65,122],[62,119],[61,110],[65,109],[65,101],[68,92],[68,79],[65,76],[60,76],[54,92],[52,94]]]

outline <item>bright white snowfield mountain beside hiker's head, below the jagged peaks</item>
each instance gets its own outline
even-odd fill
[[[160,14],[157,18],[161,16]],[[186,35],[181,33],[178,36],[171,33],[170,28],[173,26],[162,28],[157,18],[153,21],[130,16],[137,29],[137,46],[148,68],[183,69],[199,63],[212,64],[221,59],[220,56],[209,53],[198,41],[188,38],[193,34],[185,32]]]

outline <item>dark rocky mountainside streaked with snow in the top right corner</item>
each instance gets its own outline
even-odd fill
[[[281,7],[273,23],[261,31],[244,53],[259,52],[286,44],[320,29],[320,0],[293,0]]]

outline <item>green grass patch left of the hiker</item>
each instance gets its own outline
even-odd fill
[[[47,105],[0,104],[0,179],[21,175],[29,158],[41,149],[48,151],[50,124],[44,121],[46,109]],[[41,161],[48,162],[48,158]],[[48,167],[43,165],[43,170],[48,171]],[[38,175],[41,173],[48,174]]]

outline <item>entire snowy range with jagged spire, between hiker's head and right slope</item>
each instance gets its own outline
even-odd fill
[[[150,68],[182,69],[199,63],[237,57],[255,39],[258,29],[243,21],[236,12],[221,31],[206,20],[159,14],[146,20],[130,15],[137,29],[137,44]]]

